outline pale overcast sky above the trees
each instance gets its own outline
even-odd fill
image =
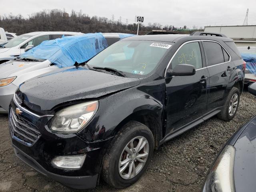
[[[6,0],[0,0],[4,4]],[[18,6],[20,4],[20,6]],[[135,16],[144,16],[144,25],[149,22],[162,26],[224,26],[242,25],[249,8],[248,24],[256,24],[256,0],[8,0],[0,16],[29,14],[50,9],[71,10],[89,16],[101,16],[122,22],[133,23]]]

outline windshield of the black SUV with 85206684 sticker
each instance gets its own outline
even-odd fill
[[[94,56],[88,65],[94,68],[112,68],[129,77],[150,74],[170,50],[173,43],[121,40]]]

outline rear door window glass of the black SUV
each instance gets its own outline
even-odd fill
[[[204,41],[204,46],[208,60],[207,66],[224,63],[222,46],[220,46],[220,44],[210,41]]]

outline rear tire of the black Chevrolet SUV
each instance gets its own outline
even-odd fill
[[[237,96],[237,100],[236,100],[236,102],[233,102],[233,100],[236,96]],[[238,110],[239,102],[240,102],[240,91],[238,90],[238,88],[233,87],[227,96],[224,107],[222,108],[221,112],[218,114],[218,118],[222,119],[224,121],[232,120]],[[236,108],[233,113],[232,112],[230,113],[230,105],[233,104],[233,106],[234,106],[234,103],[237,103]]]

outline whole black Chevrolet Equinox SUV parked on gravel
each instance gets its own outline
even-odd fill
[[[245,64],[234,41],[196,32],[124,38],[28,80],[10,104],[16,156],[66,186],[136,182],[164,142],[214,115],[234,118]]]

